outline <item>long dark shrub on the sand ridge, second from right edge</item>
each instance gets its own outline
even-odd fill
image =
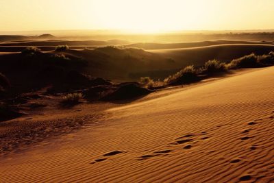
[[[227,64],[228,69],[254,68],[259,66],[260,62],[258,62],[258,56],[256,56],[254,53],[251,53],[248,56],[234,59],[229,64]]]

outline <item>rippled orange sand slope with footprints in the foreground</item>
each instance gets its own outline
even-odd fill
[[[274,67],[106,111],[0,160],[0,182],[274,182]]]

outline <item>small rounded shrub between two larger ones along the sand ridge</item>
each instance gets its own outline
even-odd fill
[[[203,66],[202,72],[203,73],[220,73],[227,70],[225,63],[220,62],[219,60],[209,60]]]

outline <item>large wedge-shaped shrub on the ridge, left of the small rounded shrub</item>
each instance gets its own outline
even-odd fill
[[[196,69],[193,65],[190,65],[175,73],[175,75],[170,75],[164,79],[164,83],[168,85],[190,84],[192,82],[197,82],[198,80],[199,77],[197,75]]]

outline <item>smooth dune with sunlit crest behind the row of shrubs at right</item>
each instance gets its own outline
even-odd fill
[[[228,62],[250,53],[262,55],[273,50],[274,45],[223,44],[182,49],[155,49],[149,50],[149,52],[157,53],[158,56],[165,58],[172,58],[175,62],[180,62],[184,66],[188,64],[199,66],[212,59]]]

